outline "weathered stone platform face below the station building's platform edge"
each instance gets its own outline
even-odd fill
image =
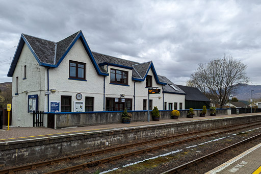
[[[113,145],[261,120],[261,115],[164,123],[89,133],[0,142],[0,165],[16,165],[41,159],[99,150]]]

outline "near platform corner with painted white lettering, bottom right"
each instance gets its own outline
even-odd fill
[[[206,174],[259,174],[261,173],[261,143],[246,152],[206,172]]]

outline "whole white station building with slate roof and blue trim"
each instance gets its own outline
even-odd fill
[[[82,31],[59,42],[21,34],[8,77],[13,78],[14,126],[32,127],[34,110],[147,110],[148,87],[161,90],[150,94],[150,110],[185,107],[186,93],[158,76],[152,61],[92,52]]]

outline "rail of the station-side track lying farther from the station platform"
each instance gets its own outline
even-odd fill
[[[257,125],[259,125],[259,124],[257,124]],[[251,127],[251,126],[247,126],[247,127]],[[159,149],[162,149],[164,147],[169,147],[169,146],[172,146],[172,145],[175,145],[175,144],[181,144],[181,143],[184,143],[184,142],[189,142],[189,141],[200,139],[200,138],[203,138],[203,137],[213,136],[213,135],[222,134],[222,133],[235,131],[235,130],[239,130],[239,129],[242,129],[242,128],[235,128],[235,129],[217,132],[217,133],[213,133],[213,134],[202,135],[202,136],[198,136],[198,137],[194,137],[194,138],[189,138],[189,139],[175,141],[175,142],[171,142],[171,143],[167,143],[167,144],[163,144],[163,145],[149,147],[149,148],[145,148],[143,150],[139,150],[139,151],[135,151],[135,152],[129,152],[129,153],[125,153],[125,154],[121,154],[121,155],[117,155],[117,156],[113,156],[113,157],[109,157],[109,158],[105,158],[105,159],[101,159],[101,160],[95,160],[95,161],[91,161],[91,162],[84,163],[84,164],[79,164],[79,165],[75,165],[75,166],[71,166],[71,167],[67,167],[67,168],[63,168],[63,169],[59,169],[59,170],[55,170],[55,171],[50,171],[50,172],[47,172],[45,174],[65,173],[65,172],[75,171],[75,170],[84,169],[84,168],[88,168],[88,167],[94,167],[98,164],[113,162],[115,160],[126,158],[126,157],[129,157],[129,156],[135,156],[135,155],[138,155],[138,154],[147,153],[147,152],[154,151],[154,150],[159,150]]]

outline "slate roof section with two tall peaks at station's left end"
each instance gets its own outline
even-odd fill
[[[68,54],[68,52],[70,51],[70,49],[78,39],[82,41],[84,48],[88,56],[90,57],[97,73],[103,76],[109,76],[109,73],[107,73],[104,70],[101,70],[102,68],[100,68],[97,65],[91,53],[91,49],[84,38],[82,31],[76,32],[59,42],[48,41],[30,35],[21,34],[20,41],[18,43],[7,76],[8,77],[13,76],[13,72],[18,62],[18,59],[20,57],[24,43],[28,45],[30,51],[32,52],[32,54],[34,55],[35,59],[37,60],[40,66],[56,68],[60,65],[60,63],[63,61],[65,56]]]

